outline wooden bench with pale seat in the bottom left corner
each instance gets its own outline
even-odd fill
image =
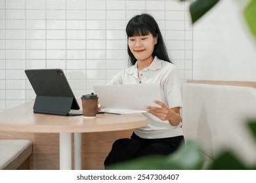
[[[29,169],[31,154],[30,140],[0,140],[0,170]]]

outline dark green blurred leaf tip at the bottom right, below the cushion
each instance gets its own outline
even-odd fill
[[[234,154],[231,152],[223,152],[213,163],[207,168],[209,170],[247,170],[244,163],[242,163]]]

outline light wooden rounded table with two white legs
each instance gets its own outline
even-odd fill
[[[96,118],[33,113],[33,101],[0,112],[0,131],[59,133],[60,169],[72,168],[72,133],[75,169],[81,169],[81,133],[119,131],[147,125],[137,114],[97,114]]]

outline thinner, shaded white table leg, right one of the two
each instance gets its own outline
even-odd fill
[[[82,135],[81,133],[74,133],[74,159],[75,159],[75,170],[82,169]]]

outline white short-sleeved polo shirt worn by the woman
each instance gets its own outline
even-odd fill
[[[154,58],[153,62],[142,69],[138,76],[137,63],[117,73],[108,84],[160,84],[161,100],[169,108],[182,107],[181,84],[179,73],[173,63]],[[136,95],[136,93],[135,93]],[[170,125],[150,113],[143,113],[148,118],[148,125],[135,129],[135,134],[144,139],[160,139],[183,135],[181,124]]]

